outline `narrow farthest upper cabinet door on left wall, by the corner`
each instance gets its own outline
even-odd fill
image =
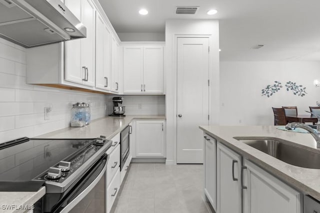
[[[119,92],[119,44],[111,37],[111,91]]]

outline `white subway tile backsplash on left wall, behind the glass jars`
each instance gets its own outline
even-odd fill
[[[91,105],[91,118],[105,115],[105,96],[25,83],[25,49],[0,39],[0,143],[69,126],[72,103]],[[49,120],[44,107],[52,104]]]

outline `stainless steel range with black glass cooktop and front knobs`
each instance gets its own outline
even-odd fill
[[[8,165],[0,167],[0,185],[14,188],[16,181],[43,181],[46,194],[35,212],[105,212],[105,152],[111,143],[101,137],[21,138],[0,144],[0,156],[5,157],[1,165]]]

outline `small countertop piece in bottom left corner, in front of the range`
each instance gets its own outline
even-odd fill
[[[37,192],[0,192],[0,213],[24,213],[27,210],[23,208],[30,209],[44,194],[45,187],[41,187]]]

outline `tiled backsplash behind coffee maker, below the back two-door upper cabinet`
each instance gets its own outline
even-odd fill
[[[106,104],[108,114],[112,113],[112,97],[117,95],[107,95]],[[126,115],[164,115],[165,96],[164,95],[121,95],[123,97],[122,106],[125,106]]]

